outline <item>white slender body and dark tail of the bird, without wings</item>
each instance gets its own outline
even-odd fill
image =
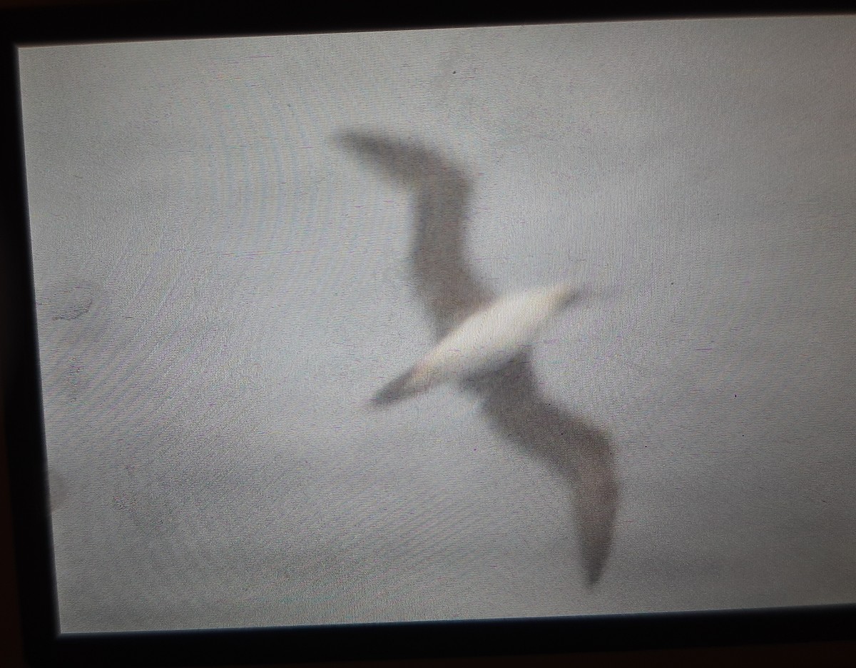
[[[574,290],[566,284],[503,295],[450,331],[407,373],[375,395],[393,403],[455,379],[499,367],[532,342],[550,316],[562,310]]]

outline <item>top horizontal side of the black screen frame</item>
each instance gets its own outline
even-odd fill
[[[240,8],[240,9],[235,9]],[[345,6],[335,14],[323,8],[289,13],[265,0],[80,0],[73,4],[10,9],[7,32],[20,45],[72,44],[158,39],[217,39],[300,33],[375,32],[451,27],[538,25],[572,21],[668,21],[752,16],[847,14],[836,3],[816,3],[810,9],[770,11],[764,3],[709,3],[687,9],[674,3],[650,3],[630,9],[625,3],[598,3],[563,11],[538,6],[471,9],[458,5],[443,9],[387,9]],[[168,17],[167,20],[164,17]],[[204,18],[200,18],[204,17]]]

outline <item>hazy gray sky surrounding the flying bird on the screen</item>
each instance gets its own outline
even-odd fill
[[[856,21],[21,51],[62,630],[856,600]],[[431,345],[407,192],[472,170],[497,291],[579,281],[556,402],[615,442],[586,588],[566,484]],[[59,484],[59,483],[57,483]]]

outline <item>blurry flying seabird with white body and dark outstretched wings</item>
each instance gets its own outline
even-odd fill
[[[342,132],[336,144],[412,195],[411,273],[437,341],[377,391],[372,405],[389,406],[452,382],[474,393],[503,439],[567,482],[586,580],[595,584],[609,558],[618,506],[612,444],[603,429],[547,397],[532,364],[538,333],[581,290],[559,283],[495,295],[467,260],[467,170],[418,140],[372,130]]]

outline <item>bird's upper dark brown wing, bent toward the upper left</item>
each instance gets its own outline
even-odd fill
[[[413,278],[439,340],[494,298],[467,263],[469,177],[453,160],[417,141],[368,131],[336,139],[413,193]]]

